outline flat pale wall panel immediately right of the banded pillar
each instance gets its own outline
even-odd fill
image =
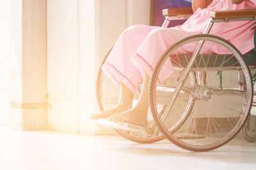
[[[77,132],[77,1],[47,1],[47,127]]]

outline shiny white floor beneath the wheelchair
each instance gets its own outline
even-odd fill
[[[233,139],[211,152],[169,141],[140,145],[119,136],[12,131],[0,126],[0,169],[256,169],[256,143]]]

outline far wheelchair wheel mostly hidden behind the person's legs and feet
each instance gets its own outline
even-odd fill
[[[102,65],[106,62],[109,53],[111,52],[112,48],[109,52],[104,56],[102,62],[100,64],[99,71],[97,73],[97,80],[96,80],[96,95],[97,95],[97,103],[99,106],[100,111],[107,110],[108,108],[112,108],[116,106],[118,103],[119,97],[119,89],[111,83],[109,78],[102,72]],[[134,94],[133,104],[136,104],[138,97],[140,95],[140,86],[136,90]],[[151,116],[152,117],[152,116]],[[120,130],[120,129],[113,129],[116,131],[120,136],[125,139],[129,139],[130,141],[134,141],[136,143],[154,143],[156,141],[161,141],[164,139],[163,134],[156,131],[156,125],[154,124],[154,120],[150,121],[151,124],[148,124],[147,132],[135,132],[135,131],[127,131],[127,130]]]

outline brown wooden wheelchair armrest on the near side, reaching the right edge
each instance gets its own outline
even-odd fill
[[[251,18],[251,17],[255,18],[256,9],[210,11],[210,17],[214,19]]]

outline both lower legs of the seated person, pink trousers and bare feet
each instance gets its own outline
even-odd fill
[[[153,29],[155,30],[152,31]],[[140,80],[141,73],[144,73],[143,78],[145,80],[143,80],[143,91],[141,92],[140,99],[134,108],[127,110],[131,108],[133,96],[131,98],[120,98],[120,105],[111,110],[94,114],[92,118],[106,118],[116,113],[109,120],[122,120],[140,125],[147,124],[148,75],[151,76],[157,60],[170,45],[190,34],[195,34],[195,32],[176,29],[156,29],[156,27],[149,27],[147,25],[134,25],[125,30],[120,38],[118,38],[110,54],[111,56],[106,60],[102,70],[117,86],[120,86],[120,84],[124,85],[123,89],[121,87],[121,94],[124,94],[123,96],[126,96],[126,92],[129,92],[129,90],[133,94]],[[133,62],[130,59],[132,54],[134,54],[132,56]],[[168,74],[172,74],[173,68],[171,62],[168,63],[164,72],[163,77],[159,77],[161,80],[164,80]],[[121,103],[124,103],[122,100],[126,98],[129,99],[130,104],[122,106]]]

